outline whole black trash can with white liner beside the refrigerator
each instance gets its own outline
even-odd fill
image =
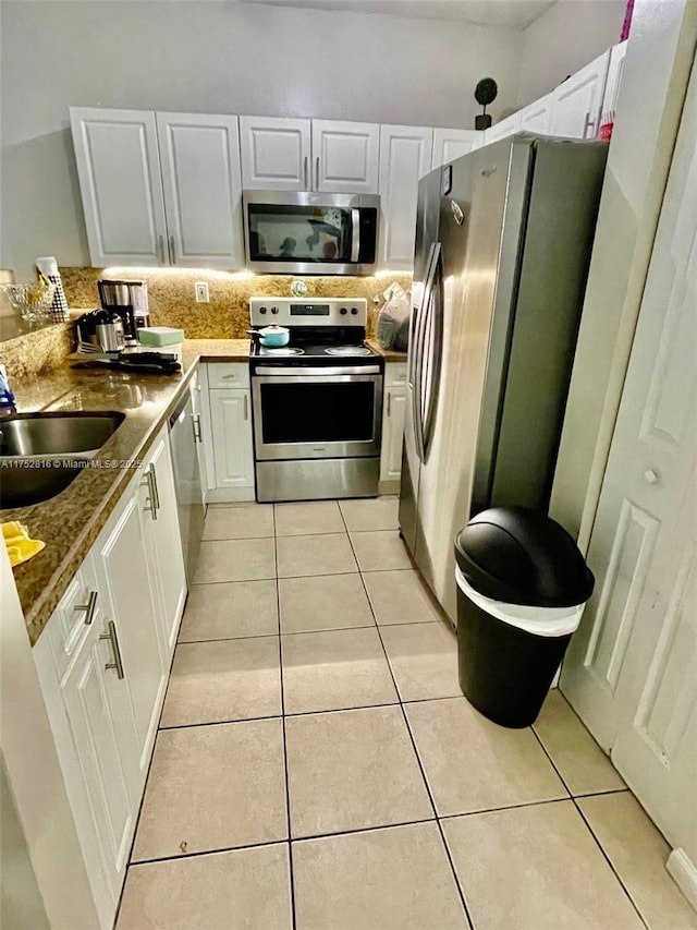
[[[590,597],[594,577],[563,527],[496,507],[455,538],[460,687],[508,727],[537,718]]]

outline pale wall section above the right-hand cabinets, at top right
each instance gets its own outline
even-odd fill
[[[543,97],[620,41],[626,0],[558,0],[523,32],[518,99]]]

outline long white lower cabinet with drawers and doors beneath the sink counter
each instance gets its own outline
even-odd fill
[[[184,599],[163,430],[34,647],[102,928],[125,877]]]

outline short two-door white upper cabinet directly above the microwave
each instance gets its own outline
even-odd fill
[[[378,190],[377,123],[240,117],[245,190]]]

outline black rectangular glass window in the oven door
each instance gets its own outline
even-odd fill
[[[264,445],[288,443],[372,443],[372,381],[353,383],[262,384]]]

